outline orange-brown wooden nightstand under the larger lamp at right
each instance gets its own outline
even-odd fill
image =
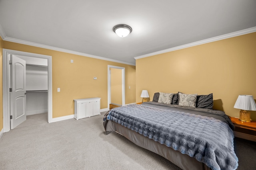
[[[235,125],[235,137],[256,142],[256,121],[243,122],[236,117],[230,117],[230,119]]]

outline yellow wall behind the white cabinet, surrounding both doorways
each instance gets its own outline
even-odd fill
[[[74,114],[73,100],[79,98],[99,97],[101,98],[100,108],[107,108],[108,65],[125,67],[126,104],[134,103],[136,100],[135,90],[133,92],[127,90],[128,86],[135,89],[135,66],[9,41],[3,42],[3,48],[52,56],[53,118]],[[74,60],[74,63],[70,63],[71,59]],[[97,77],[97,80],[94,80],[94,77]],[[60,88],[60,92],[57,92],[57,88]],[[2,95],[0,97],[2,98]]]

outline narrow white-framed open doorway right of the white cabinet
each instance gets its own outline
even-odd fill
[[[118,70],[116,70],[116,69],[118,69]],[[113,81],[113,76],[114,76],[111,74],[111,70],[112,70],[112,72],[113,71],[115,72],[114,75],[121,76],[120,78],[118,78],[118,82],[115,83],[118,86],[118,89],[116,89],[116,92],[115,92],[116,96],[117,96],[115,99],[111,98],[111,94],[113,94],[111,91],[111,89],[113,90],[113,87],[111,86],[111,80]],[[124,67],[108,65],[108,109],[110,109],[110,104],[116,104],[117,106],[125,105],[125,82],[124,82],[124,79],[125,79],[125,68]],[[120,84],[120,86],[119,86],[119,84]],[[120,100],[122,100],[122,101],[120,101]]]

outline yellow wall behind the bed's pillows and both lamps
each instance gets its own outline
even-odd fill
[[[136,60],[136,102],[148,90],[186,94],[213,93],[214,109],[239,117],[239,94],[256,99],[256,33],[197,45]],[[256,111],[250,111],[256,120]]]

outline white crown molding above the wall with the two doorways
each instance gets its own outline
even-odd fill
[[[1,28],[0,28],[1,29]],[[0,32],[1,33],[1,32]],[[5,35],[5,34],[4,34]],[[1,36],[2,37],[2,36]],[[3,38],[2,38],[3,39]],[[66,49],[61,49],[58,47],[52,47],[49,45],[43,45],[43,44],[39,44],[39,43],[33,43],[30,41],[24,41],[24,40],[20,40],[20,39],[15,39],[15,38],[10,38],[10,37],[6,37],[3,39],[4,41],[10,41],[13,43],[19,43],[19,44],[24,44],[24,45],[30,45],[30,46],[34,46],[34,47],[40,47],[40,48],[44,48],[44,49],[50,49],[50,50],[54,50],[54,51],[60,51],[60,52],[64,52],[64,53],[70,53],[70,54],[74,54],[74,55],[81,55],[84,57],[91,57],[94,59],[100,59],[100,60],[105,60],[105,61],[112,61],[112,62],[116,62],[116,63],[122,63],[122,64],[128,64],[128,65],[133,65],[135,66],[134,63],[127,63],[124,61],[118,61],[118,60],[114,60],[114,59],[108,59],[105,57],[99,57],[96,55],[90,55],[90,54],[86,54],[86,53],[80,53],[80,52],[76,52],[76,51],[71,51],[71,50],[66,50]]]

